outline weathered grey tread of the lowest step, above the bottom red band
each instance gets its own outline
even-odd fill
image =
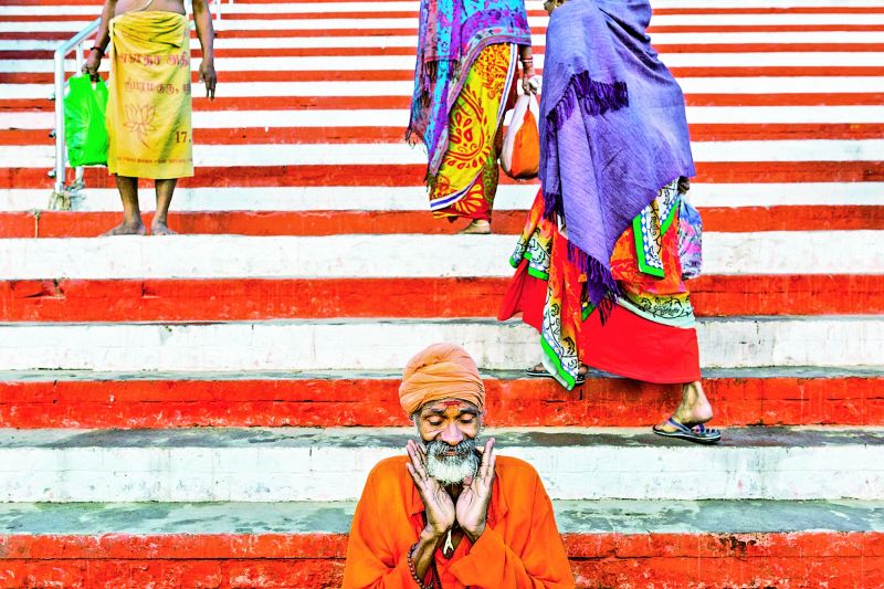
[[[6,503],[0,535],[347,534],[355,502]],[[884,532],[880,501],[554,501],[562,534]]]

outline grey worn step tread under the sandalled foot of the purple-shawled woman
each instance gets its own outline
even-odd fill
[[[141,449],[183,450],[253,449],[257,445],[286,450],[329,450],[365,454],[365,450],[404,449],[413,428],[181,428],[143,430],[0,429],[0,450]],[[649,432],[646,428],[513,427],[486,429],[484,439],[497,440],[498,452],[513,449],[592,448],[677,449],[681,452],[728,452],[747,449],[884,446],[884,425],[748,427],[732,428],[716,446],[684,445]],[[502,450],[503,449],[503,450]],[[398,455],[398,452],[393,452]],[[877,466],[884,471],[884,463]]]

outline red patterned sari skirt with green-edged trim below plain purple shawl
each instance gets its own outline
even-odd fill
[[[581,365],[649,382],[699,380],[694,311],[678,259],[675,180],[635,217],[610,264],[620,297],[602,323],[587,276],[568,255],[567,229],[538,193],[511,259],[517,269],[498,318],[518,312],[540,333],[544,366],[566,388]]]

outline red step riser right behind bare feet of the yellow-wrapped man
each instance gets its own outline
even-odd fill
[[[702,208],[705,231],[884,230],[884,206]],[[517,235],[527,212],[494,213],[494,232]],[[117,212],[0,212],[0,239],[92,238],[119,222]],[[152,213],[145,215],[149,223]],[[464,223],[427,211],[220,211],[170,213],[179,233],[235,235],[338,235],[346,233],[452,234]]]

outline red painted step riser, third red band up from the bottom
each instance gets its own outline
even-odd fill
[[[223,322],[496,317],[508,278],[0,282],[1,322]],[[699,316],[884,313],[884,274],[702,276]],[[365,296],[366,292],[373,296]],[[399,302],[403,298],[408,305]]]

